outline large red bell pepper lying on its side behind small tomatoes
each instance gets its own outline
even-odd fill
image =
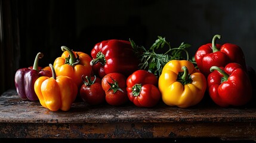
[[[129,76],[138,70],[139,60],[129,41],[108,40],[97,43],[91,51],[91,66],[99,77],[108,73],[122,73]]]

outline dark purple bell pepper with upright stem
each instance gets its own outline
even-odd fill
[[[38,97],[34,91],[34,83],[40,76],[51,77],[51,72],[42,70],[38,67],[39,58],[44,57],[44,54],[38,52],[36,55],[33,67],[18,69],[14,77],[16,91],[20,98],[28,99],[30,101],[38,101]]]

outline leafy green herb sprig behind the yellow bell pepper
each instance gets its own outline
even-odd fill
[[[140,58],[140,64],[138,65],[140,69],[150,71],[151,73],[155,74],[159,77],[162,73],[162,69],[166,63],[170,60],[189,60],[189,52],[186,48],[189,48],[191,45],[188,43],[182,42],[178,48],[171,48],[171,44],[158,36],[155,43],[147,50],[144,46],[138,46],[135,44],[134,41],[129,39],[131,42],[131,46],[137,54],[138,58]],[[156,50],[168,48],[164,53],[157,53]],[[186,53],[186,58],[184,58],[184,54]]]

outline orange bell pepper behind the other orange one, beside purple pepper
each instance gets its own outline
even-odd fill
[[[81,77],[90,76],[92,72],[90,55],[72,51],[66,46],[61,46],[61,50],[64,51],[63,54],[53,64],[57,76],[68,76],[78,87],[82,86],[84,82]]]

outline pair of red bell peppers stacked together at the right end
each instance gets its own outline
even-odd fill
[[[238,45],[220,45],[216,43],[217,38],[221,36],[215,35],[212,43],[200,46],[195,54],[198,68],[207,78],[208,93],[221,107],[245,105],[252,98],[255,84],[250,79],[255,77],[255,72],[249,72],[245,55]]]

